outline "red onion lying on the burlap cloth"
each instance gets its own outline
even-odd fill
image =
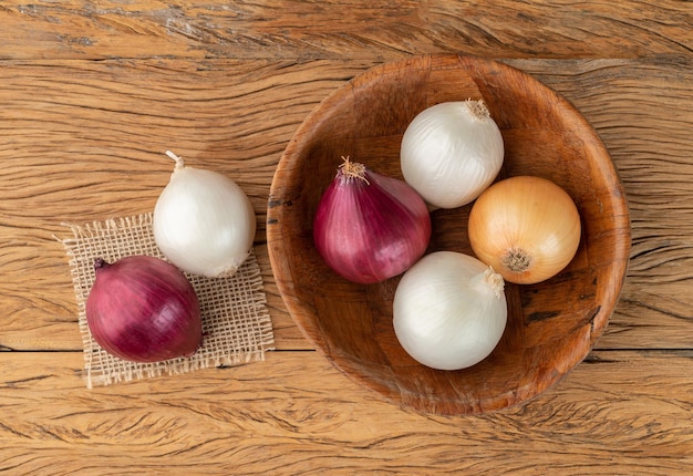
[[[195,353],[203,341],[199,302],[174,265],[131,256],[94,261],[96,280],[86,300],[94,340],[113,355],[157,362]]]

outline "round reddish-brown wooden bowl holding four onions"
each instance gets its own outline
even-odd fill
[[[318,255],[312,221],[340,157],[402,178],[400,142],[424,108],[484,99],[505,141],[500,177],[537,175],[563,187],[582,219],[577,256],[538,284],[507,284],[508,324],[483,362],[436,371],[410,358],[392,327],[399,279],[355,284]],[[470,205],[432,214],[428,251],[473,255]],[[285,303],[306,338],[345,374],[402,407],[435,414],[496,411],[531,399],[580,363],[619,299],[630,251],[628,206],[597,133],[565,99],[510,66],[423,55],[374,68],[328,96],[298,128],[275,174],[267,236]],[[316,382],[319,384],[319,382]]]

